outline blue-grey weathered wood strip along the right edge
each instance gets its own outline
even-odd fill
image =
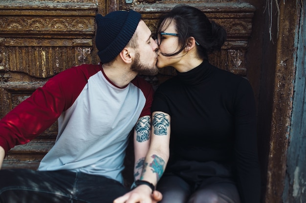
[[[306,202],[306,1],[301,1],[301,5],[304,10],[301,10],[298,35],[296,35],[296,71],[290,132],[287,138],[289,145],[285,163],[287,167],[284,203]]]

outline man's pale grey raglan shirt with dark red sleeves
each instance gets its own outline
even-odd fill
[[[28,143],[58,120],[55,145],[39,170],[71,170],[123,182],[128,135],[138,118],[151,115],[153,88],[136,77],[119,88],[99,65],[72,67],[49,79],[0,120],[7,152]]]

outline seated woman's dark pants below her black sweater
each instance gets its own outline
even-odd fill
[[[231,167],[213,161],[168,164],[157,190],[163,194],[160,203],[240,203]]]

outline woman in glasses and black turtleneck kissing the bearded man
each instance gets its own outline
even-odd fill
[[[152,106],[147,157],[155,162],[146,163],[153,172],[156,163],[167,165],[160,180],[163,169],[156,172],[160,203],[259,203],[252,88],[208,62],[226,31],[197,8],[179,5],[160,18],[156,33],[157,66],[177,72],[156,90]],[[145,173],[142,180],[155,183]]]

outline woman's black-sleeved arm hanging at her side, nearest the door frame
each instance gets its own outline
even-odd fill
[[[256,107],[252,88],[242,80],[237,88],[235,111],[235,163],[242,203],[259,203],[261,174],[258,160]]]

